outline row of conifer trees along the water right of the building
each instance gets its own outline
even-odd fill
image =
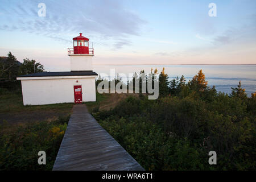
[[[140,75],[144,74],[144,69],[142,69],[139,73],[134,73],[133,78],[131,80],[127,80],[127,82],[123,82],[122,78],[119,77],[119,74],[117,73],[117,76],[113,80],[106,80],[106,78],[102,78],[100,75],[98,76],[96,80],[96,88],[98,84],[100,84],[101,81],[108,81],[109,85],[111,82],[114,82],[115,85],[117,85],[119,82],[122,82],[122,84],[131,84],[133,82],[133,89],[135,89],[135,82],[139,82],[139,92],[141,93],[142,88],[142,82],[144,81],[145,85],[147,85],[148,77],[146,76],[145,80],[142,80]],[[217,90],[215,86],[208,86],[208,81],[205,80],[205,75],[202,71],[202,69],[192,78],[192,80],[189,80],[186,84],[186,79],[182,75],[180,78],[176,77],[172,80],[169,79],[169,76],[167,73],[165,73],[165,69],[163,68],[160,74],[158,73],[158,69],[151,68],[150,74],[152,75],[152,88],[154,89],[154,81],[157,81],[159,84],[159,96],[165,97],[165,96],[188,96],[190,93],[199,94],[200,97],[210,98],[212,95],[217,94]],[[156,77],[156,75],[159,75],[159,77]],[[122,86],[121,86],[122,88]],[[147,89],[147,86],[146,86]],[[241,81],[238,82],[237,88],[231,88],[232,93],[230,94],[230,97],[240,97],[240,98],[246,98],[246,92],[245,89],[242,88]],[[256,92],[251,94],[252,96],[255,96]]]

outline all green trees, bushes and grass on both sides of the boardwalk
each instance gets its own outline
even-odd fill
[[[15,77],[35,72],[36,62],[21,64],[11,53],[0,59],[0,170],[51,170],[73,104],[23,106]],[[39,64],[36,68],[43,71]],[[141,73],[133,77],[139,85]],[[158,70],[151,73],[156,79]],[[241,82],[230,94],[217,92],[202,70],[186,81],[184,76],[170,80],[163,69],[158,83],[158,100],[96,93],[97,101],[86,106],[146,170],[255,170],[256,93],[247,97]],[[42,150],[46,166],[37,163]],[[209,151],[216,151],[217,165],[208,163]]]

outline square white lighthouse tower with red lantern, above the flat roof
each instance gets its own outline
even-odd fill
[[[89,48],[89,39],[82,36],[73,38],[73,48],[68,48],[71,71],[92,71],[93,48]]]

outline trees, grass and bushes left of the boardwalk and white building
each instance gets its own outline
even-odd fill
[[[16,76],[42,71],[35,60],[0,57],[0,171],[53,167],[73,104],[23,105]],[[38,164],[39,151],[46,151],[46,165]]]

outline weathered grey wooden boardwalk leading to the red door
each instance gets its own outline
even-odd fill
[[[144,170],[88,113],[74,105],[53,170]]]

